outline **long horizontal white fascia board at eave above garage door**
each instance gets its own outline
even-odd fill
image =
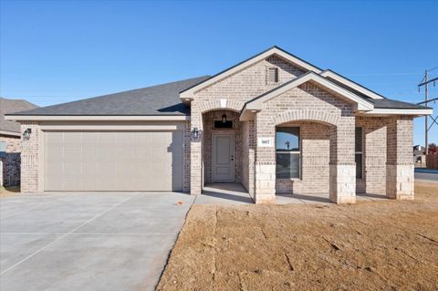
[[[190,120],[190,116],[171,116],[171,115],[118,115],[118,116],[98,116],[98,115],[5,115],[5,120]]]

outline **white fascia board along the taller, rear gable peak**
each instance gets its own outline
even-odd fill
[[[316,68],[316,67],[306,63],[305,61],[303,61],[297,57],[291,56],[291,55],[287,54],[286,52],[284,52],[283,50],[278,49],[277,47],[273,47],[269,50],[266,50],[266,52],[264,52],[263,54],[260,54],[256,57],[253,57],[253,58],[250,58],[247,61],[243,62],[242,64],[235,66],[234,68],[230,68],[228,70],[225,70],[224,73],[222,73],[222,74],[216,75],[213,78],[209,78],[209,79],[205,80],[204,82],[202,82],[201,84],[198,84],[193,88],[190,88],[186,91],[183,91],[180,94],[180,99],[182,99],[183,101],[184,101],[184,99],[193,99],[194,92],[196,92],[202,88],[205,88],[211,84],[214,84],[215,82],[217,82],[223,78],[226,78],[228,76],[235,74],[236,72],[242,70],[243,68],[254,65],[255,63],[265,59],[266,57],[271,57],[273,55],[276,55],[277,57],[281,57],[281,58],[297,65],[300,68],[307,69],[308,71],[316,72],[318,74],[322,72],[319,68]]]

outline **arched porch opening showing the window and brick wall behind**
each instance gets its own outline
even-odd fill
[[[318,120],[276,124],[276,203],[329,202],[337,127]]]

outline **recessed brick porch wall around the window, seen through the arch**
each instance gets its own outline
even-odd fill
[[[276,192],[328,193],[330,130],[327,124],[293,121],[281,127],[298,127],[300,133],[300,178],[276,179]]]

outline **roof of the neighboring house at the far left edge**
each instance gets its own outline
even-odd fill
[[[5,99],[0,97],[0,130],[20,133],[20,123],[5,120],[5,114],[36,108],[35,104],[23,99]]]

